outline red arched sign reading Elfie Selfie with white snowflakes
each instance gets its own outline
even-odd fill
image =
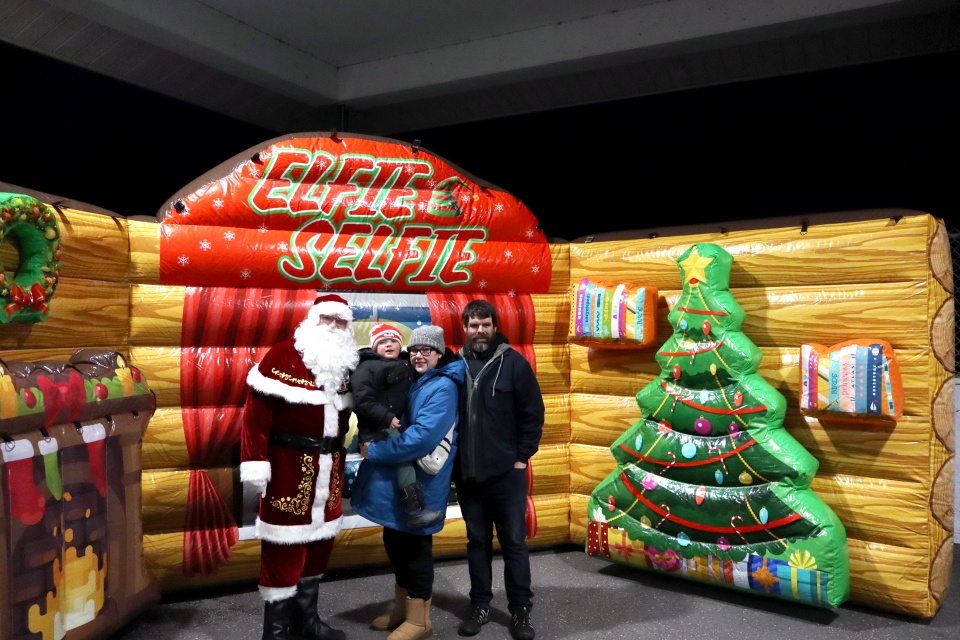
[[[221,164],[159,213],[161,283],[543,293],[550,250],[516,197],[421,149],[300,134]]]

